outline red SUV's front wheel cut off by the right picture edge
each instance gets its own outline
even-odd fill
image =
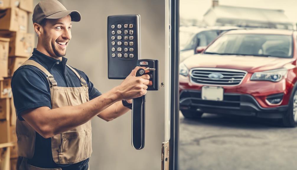
[[[282,118],[285,127],[296,127],[297,123],[297,90],[290,99],[290,104],[287,113]]]

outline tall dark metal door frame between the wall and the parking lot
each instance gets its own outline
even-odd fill
[[[179,0],[170,0],[170,140],[169,169],[179,169]]]

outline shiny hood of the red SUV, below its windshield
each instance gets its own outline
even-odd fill
[[[258,72],[282,67],[291,68],[295,60],[279,57],[197,54],[184,60],[183,63],[189,70],[194,67],[210,67]]]

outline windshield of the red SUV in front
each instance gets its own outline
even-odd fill
[[[204,53],[292,57],[292,36],[278,34],[226,34],[219,37]]]

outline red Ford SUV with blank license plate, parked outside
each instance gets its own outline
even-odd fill
[[[179,66],[180,110],[297,122],[296,31],[233,30]]]

